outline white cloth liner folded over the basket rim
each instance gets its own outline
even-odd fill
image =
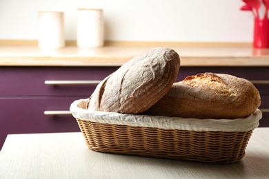
[[[86,109],[86,101],[87,99],[80,99],[71,104],[70,112],[72,112],[74,118],[114,125],[157,127],[161,129],[188,131],[250,131],[259,126],[259,120],[262,116],[259,109],[246,118],[236,119],[177,118],[141,114],[120,114],[117,112],[96,112]]]

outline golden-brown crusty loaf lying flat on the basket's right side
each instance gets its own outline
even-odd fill
[[[202,73],[174,83],[146,114],[182,118],[244,118],[259,107],[256,87],[228,74]]]

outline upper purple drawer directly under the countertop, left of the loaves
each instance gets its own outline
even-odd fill
[[[45,81],[101,81],[117,67],[0,67],[0,96],[88,95],[97,84],[46,85]]]

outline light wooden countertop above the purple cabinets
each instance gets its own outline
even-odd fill
[[[120,66],[150,46],[66,47],[41,50],[34,45],[0,45],[0,66]],[[269,49],[251,47],[168,47],[181,66],[269,66]]]

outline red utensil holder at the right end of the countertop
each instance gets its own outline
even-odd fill
[[[269,19],[255,18],[253,47],[269,48]]]

